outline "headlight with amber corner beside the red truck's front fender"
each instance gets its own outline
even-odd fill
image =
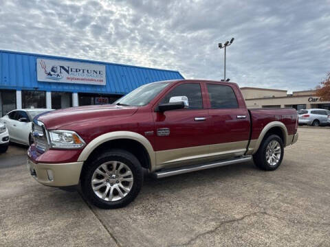
[[[50,130],[51,148],[83,148],[85,141],[71,130]]]

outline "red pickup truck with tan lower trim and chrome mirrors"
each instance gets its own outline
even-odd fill
[[[91,203],[113,209],[134,200],[144,169],[163,178],[253,159],[274,170],[297,126],[294,109],[248,110],[234,83],[153,82],[114,104],[34,118],[28,167],[43,185],[80,185]]]

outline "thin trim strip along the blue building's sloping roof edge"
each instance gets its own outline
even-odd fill
[[[168,71],[168,72],[174,72],[179,73],[179,71],[171,70],[171,69],[157,69],[157,68],[150,68],[150,67],[142,67],[142,66],[136,66],[136,65],[129,65],[129,64],[120,64],[115,62],[104,62],[104,61],[98,61],[98,60],[88,60],[83,58],[69,58],[64,56],[54,56],[54,55],[47,55],[47,54],[34,54],[30,52],[23,52],[23,51],[8,51],[0,49],[0,53],[10,53],[10,54],[21,54],[21,55],[30,55],[30,56],[39,56],[39,57],[47,57],[47,58],[56,58],[56,59],[65,59],[65,60],[74,60],[74,61],[81,61],[81,62],[92,62],[92,63],[99,63],[99,64],[111,64],[111,65],[118,65],[118,66],[124,66],[124,67],[133,67],[137,69],[153,69],[157,71]],[[181,75],[181,73],[179,73]],[[182,78],[184,78],[181,75]]]

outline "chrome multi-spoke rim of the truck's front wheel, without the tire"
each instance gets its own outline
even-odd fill
[[[133,186],[133,173],[120,161],[100,165],[91,177],[91,187],[102,200],[114,202],[129,194]]]

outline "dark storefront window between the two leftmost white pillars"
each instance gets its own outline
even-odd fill
[[[46,92],[22,91],[23,108],[46,108]]]

